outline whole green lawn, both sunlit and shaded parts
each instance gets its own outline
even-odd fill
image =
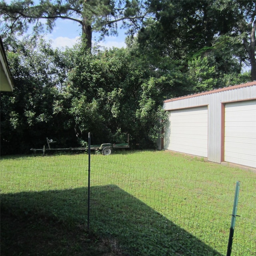
[[[256,174],[164,151],[1,159],[1,255],[256,255]]]

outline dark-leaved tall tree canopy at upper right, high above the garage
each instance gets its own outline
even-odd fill
[[[212,52],[216,68],[227,74],[242,63],[255,70],[255,1],[150,1],[138,41],[146,54],[179,62],[183,73],[195,56]],[[224,40],[223,40],[224,39]],[[228,48],[224,49],[224,43]],[[224,52],[221,53],[221,48]],[[230,52],[230,55],[226,54]],[[153,54],[152,54],[153,53]]]

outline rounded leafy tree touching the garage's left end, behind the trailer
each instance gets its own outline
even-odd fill
[[[105,50],[88,55],[82,46],[74,49],[74,68],[66,92],[72,94],[68,112],[82,140],[92,132],[93,143],[131,142],[152,147],[163,113],[160,80],[150,74],[148,62],[129,49]]]

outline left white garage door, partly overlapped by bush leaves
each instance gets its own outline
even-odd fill
[[[164,149],[207,157],[208,107],[170,111]]]

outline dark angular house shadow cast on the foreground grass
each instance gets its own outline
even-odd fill
[[[1,195],[1,255],[221,255],[115,185]]]

